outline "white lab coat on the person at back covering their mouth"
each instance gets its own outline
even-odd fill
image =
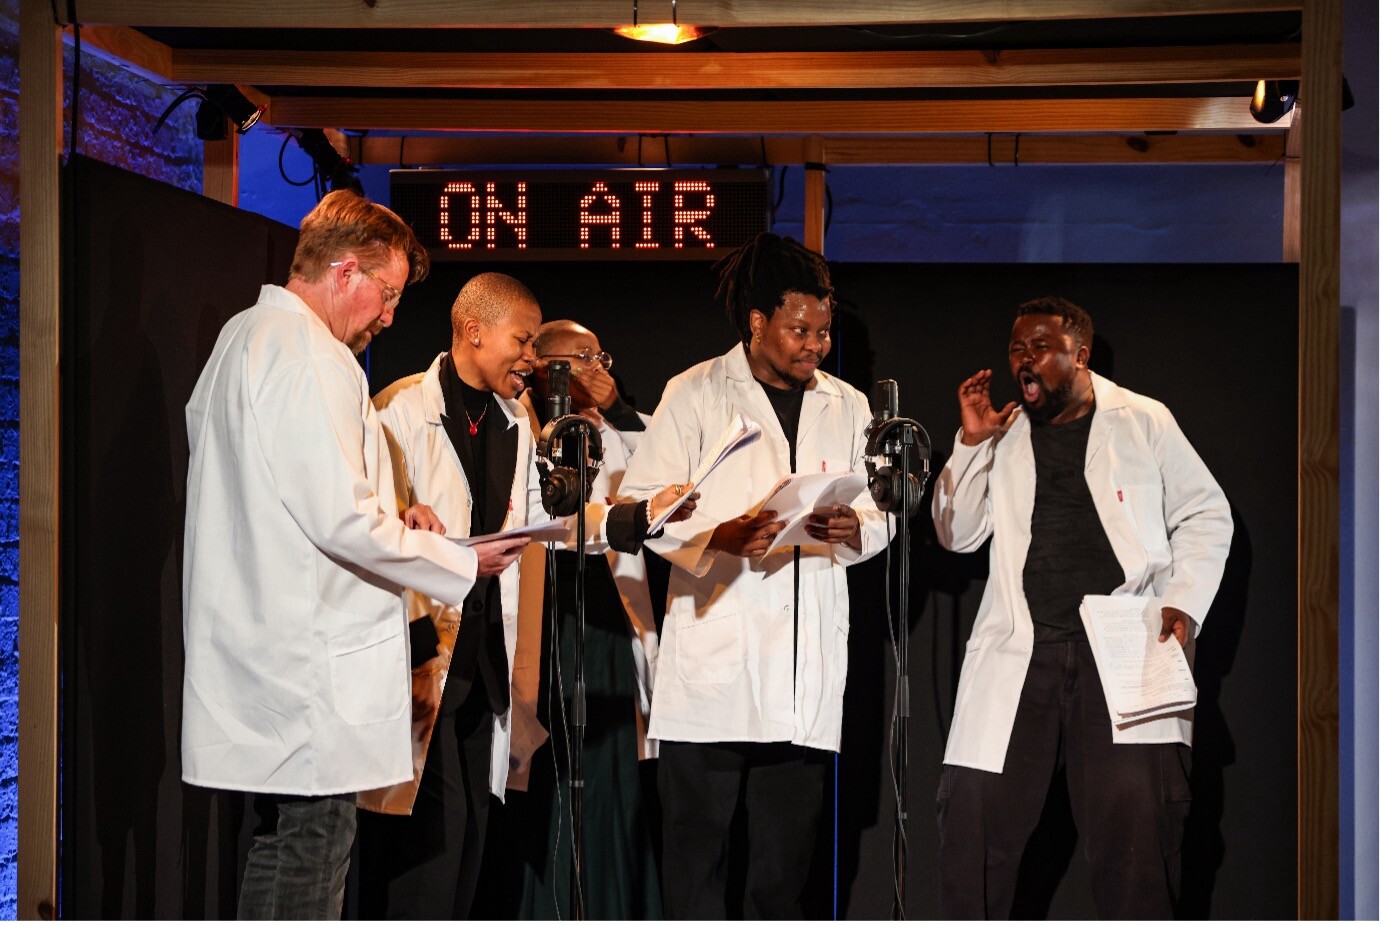
[[[530,431],[534,438],[541,433],[538,414],[533,406],[534,393],[525,392],[519,397],[529,415]],[[648,426],[653,418],[639,414],[639,420]],[[597,501],[613,504],[620,494],[620,483],[630,465],[630,456],[639,446],[641,431],[619,431],[605,418],[597,425],[601,433],[602,464],[591,479],[591,497]],[[635,741],[639,751],[639,760],[657,757],[657,742],[648,738],[649,709],[653,702],[653,670],[659,661],[659,629],[653,619],[653,598],[649,597],[649,576],[644,562],[644,555],[627,555],[614,550],[605,551],[606,564],[610,568],[610,577],[616,591],[624,604],[624,613],[630,626],[630,648],[634,655],[634,676],[638,690],[635,712]],[[529,721],[538,733],[538,687],[543,652],[543,623],[547,619],[544,573],[548,568],[547,557],[540,546],[525,550],[519,562],[519,638],[515,647],[513,681],[511,684],[511,702],[516,712],[525,710],[525,716],[515,716],[516,727]],[[547,735],[543,730],[541,735]],[[529,762],[533,755],[531,748],[541,745],[537,735],[523,735],[516,733],[515,744],[509,755],[508,788],[526,791],[529,788]]]

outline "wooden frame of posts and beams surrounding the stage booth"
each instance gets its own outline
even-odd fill
[[[58,4],[62,7],[64,4]],[[58,762],[58,148],[61,33],[21,1],[21,918],[55,908]],[[131,26],[610,28],[628,0],[83,0],[86,48],[151,80],[237,83],[267,125],[450,130],[354,140],[363,163],[807,165],[804,238],[822,246],[832,163],[1243,163],[1286,158],[1284,260],[1298,260],[1298,913],[1338,908],[1338,381],[1341,0],[681,0],[685,24],[814,26],[1302,12],[1301,44],[1026,51],[453,54],[187,50]],[[421,98],[426,90],[1092,87],[1301,79],[1273,126],[1243,97],[1092,96],[666,102]],[[336,94],[273,93],[331,87]],[[357,87],[397,90],[360,96]],[[410,91],[414,91],[412,94]],[[573,133],[561,141],[541,133]],[[1146,134],[1157,133],[1157,134]],[[1176,134],[1165,134],[1176,133]],[[662,136],[642,144],[646,134]],[[407,147],[407,151],[404,150]],[[660,150],[662,148],[662,150]],[[235,201],[235,137],[206,147],[205,192]]]

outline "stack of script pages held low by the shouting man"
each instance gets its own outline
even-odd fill
[[[1081,601],[1081,623],[1116,726],[1181,713],[1197,702],[1192,666],[1178,638],[1158,641],[1161,613],[1158,598],[1088,594]]]

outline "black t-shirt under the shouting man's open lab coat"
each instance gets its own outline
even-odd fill
[[[1124,569],[1110,546],[1086,485],[1086,442],[1095,411],[1068,424],[1034,421],[1032,539],[1024,561],[1024,597],[1035,643],[1085,636],[1081,598],[1110,594]]]

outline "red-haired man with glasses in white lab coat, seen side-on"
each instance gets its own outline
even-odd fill
[[[183,780],[257,795],[241,918],[340,917],[356,791],[411,775],[403,586],[461,602],[519,554],[394,507],[353,352],[426,271],[394,213],[327,195],[187,406]]]

